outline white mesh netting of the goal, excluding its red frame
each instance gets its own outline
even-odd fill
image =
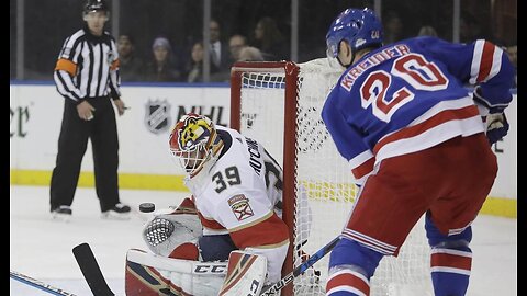
[[[337,237],[352,207],[355,182],[347,161],[338,153],[321,111],[327,93],[343,69],[326,58],[299,65],[296,83],[295,193],[305,193],[307,202],[295,204],[294,266],[302,254],[311,254]],[[283,68],[246,69],[242,75],[240,132],[261,141],[283,166],[284,91]],[[309,216],[309,219],[306,218]],[[311,219],[311,225],[307,220]],[[329,255],[295,278],[294,295],[324,295]],[[429,294],[429,255],[423,221],[414,228],[399,258],[384,258],[371,280],[371,295]],[[404,287],[403,287],[404,286]],[[401,294],[402,293],[402,294]]]

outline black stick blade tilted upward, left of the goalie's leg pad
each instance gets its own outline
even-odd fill
[[[96,257],[88,243],[83,242],[74,248],[74,255],[79,264],[80,271],[86,282],[90,286],[94,296],[114,296],[115,294],[108,286],[106,280],[102,275],[101,269],[97,263]]]

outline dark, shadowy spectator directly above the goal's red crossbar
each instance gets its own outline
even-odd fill
[[[288,59],[288,46],[274,19],[265,16],[258,21],[251,45],[259,48],[266,60]]]

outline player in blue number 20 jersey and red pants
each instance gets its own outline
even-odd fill
[[[415,37],[384,46],[382,36],[369,9],[345,10],[326,35],[328,56],[347,69],[322,117],[360,186],[330,255],[326,293],[369,295],[382,257],[397,255],[426,213],[435,295],[464,295],[471,223],[497,173],[491,145],[508,130],[514,70],[487,41]]]

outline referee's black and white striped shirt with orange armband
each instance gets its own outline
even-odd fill
[[[57,90],[77,104],[96,96],[121,96],[119,54],[115,39],[85,26],[64,42],[54,73]]]

